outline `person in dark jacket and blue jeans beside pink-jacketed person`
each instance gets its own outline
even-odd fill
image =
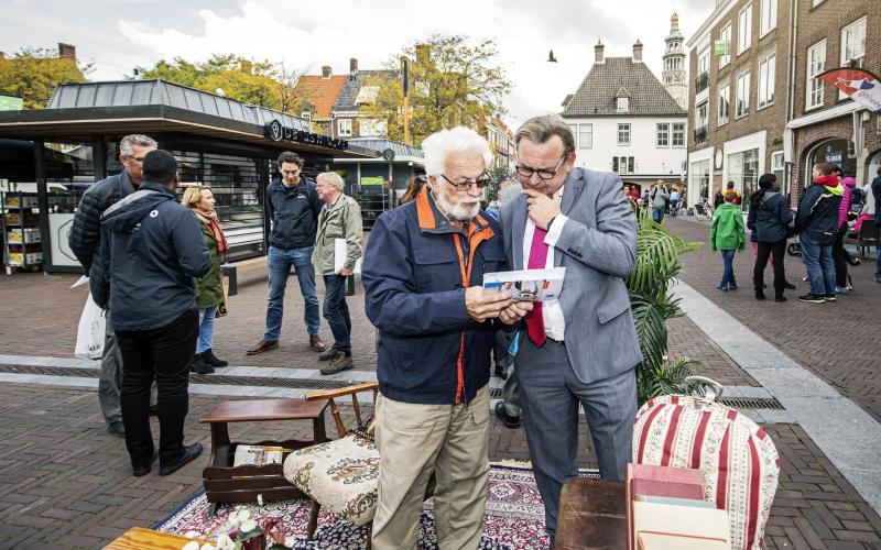
[[[811,293],[802,301],[823,304],[835,301],[835,263],[833,245],[838,233],[838,206],[844,194],[841,183],[830,163],[817,163],[812,173],[813,184],[805,189],[795,215],[800,233],[802,261],[811,280]]]

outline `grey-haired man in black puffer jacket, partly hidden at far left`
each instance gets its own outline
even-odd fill
[[[141,169],[144,155],[156,148],[152,138],[131,134],[119,142],[119,162],[124,169],[119,174],[93,184],[79,200],[74,215],[74,224],[68,237],[70,250],[76,255],[86,275],[89,277],[91,295],[95,297],[97,285],[102,279],[100,262],[100,223],[101,215],[113,204],[134,193],[143,182]],[[107,331],[105,333],[101,371],[98,380],[98,403],[101,405],[107,431],[123,437],[122,409],[119,405],[119,388],[122,382],[122,356],[117,345],[116,336],[110,329],[110,312],[107,311]],[[153,397],[155,403],[155,393]]]

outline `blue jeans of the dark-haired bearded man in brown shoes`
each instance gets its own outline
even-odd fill
[[[309,334],[318,333],[322,320],[318,317],[318,294],[315,290],[315,270],[312,267],[312,251],[315,246],[304,249],[276,249],[269,248],[269,304],[267,306],[267,332],[264,340],[278,341],[282,332],[282,318],[284,317],[284,288],[287,277],[291,276],[291,266],[296,268],[296,278],[300,282],[300,294],[306,307],[303,320]]]

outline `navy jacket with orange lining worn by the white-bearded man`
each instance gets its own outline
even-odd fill
[[[478,216],[466,235],[446,221],[427,188],[377,219],[365,251],[365,309],[379,329],[377,377],[385,397],[452,405],[489,383],[491,321],[465,309],[465,287],[504,271],[501,230]],[[471,268],[463,285],[456,241]]]

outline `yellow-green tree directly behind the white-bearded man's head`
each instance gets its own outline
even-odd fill
[[[481,118],[494,120],[504,112],[502,100],[511,85],[499,65],[494,41],[472,43],[463,35],[432,35],[389,59],[385,76],[365,79],[365,86],[376,90],[376,99],[362,105],[361,112],[384,122],[390,140],[404,141],[402,57],[412,59],[410,133],[415,146],[440,129],[477,129]]]

